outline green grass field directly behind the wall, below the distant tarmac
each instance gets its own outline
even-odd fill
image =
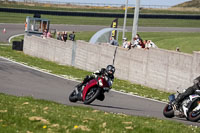
[[[95,32],[77,32],[76,38],[89,41]],[[200,34],[191,32],[139,32],[144,40],[152,40],[159,48],[174,50],[179,47],[181,52],[192,54],[193,51],[200,51]],[[119,43],[122,44],[122,33],[119,34]],[[127,32],[126,37],[130,41],[131,33]]]

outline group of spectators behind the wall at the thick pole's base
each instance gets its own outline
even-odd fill
[[[153,43],[151,40],[142,40],[139,34],[136,34],[136,36],[133,38],[133,44],[131,42],[127,41],[127,38],[123,38],[123,48],[144,48],[144,49],[149,49],[149,48],[157,48],[155,43]]]

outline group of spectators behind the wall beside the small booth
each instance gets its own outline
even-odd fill
[[[43,38],[52,38],[53,36],[50,31],[44,30],[42,37]],[[66,42],[68,40],[68,32],[67,31],[57,32],[56,39]],[[75,32],[74,31],[72,31],[72,33],[69,34],[69,40],[71,40],[71,41],[75,40]]]

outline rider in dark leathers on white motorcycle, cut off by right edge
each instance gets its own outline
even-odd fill
[[[175,110],[179,108],[180,103],[182,102],[185,97],[188,97],[191,94],[195,94],[196,90],[200,90],[200,76],[194,79],[194,85],[187,88],[185,92],[180,93],[175,101],[172,103],[172,106]]]

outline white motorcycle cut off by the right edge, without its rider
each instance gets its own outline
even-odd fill
[[[178,93],[180,95],[180,93]],[[177,95],[177,96],[178,96]],[[200,120],[200,90],[195,94],[186,97],[175,110],[172,106],[173,101],[176,99],[174,94],[169,96],[169,103],[163,109],[163,115],[167,118],[174,116],[186,118],[189,121],[197,122]]]

